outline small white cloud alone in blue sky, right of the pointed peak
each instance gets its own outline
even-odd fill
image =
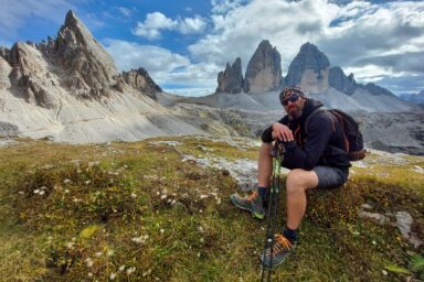
[[[184,19],[169,19],[160,12],[148,13],[144,22],[138,22],[134,34],[149,40],[160,39],[161,30],[178,31],[182,34],[202,33],[206,28],[203,18],[195,15]]]

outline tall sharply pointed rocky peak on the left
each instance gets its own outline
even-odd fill
[[[64,85],[77,96],[108,96],[118,70],[113,58],[72,11],[67,12],[57,40],[50,40],[40,48],[56,51],[56,59],[66,70]]]

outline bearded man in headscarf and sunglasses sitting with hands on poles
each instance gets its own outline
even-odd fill
[[[322,107],[320,101],[307,98],[297,87],[283,90],[279,100],[287,115],[262,134],[257,188],[247,197],[231,195],[239,208],[250,210],[258,219],[264,218],[264,202],[273,171],[273,141],[282,141],[285,147],[282,165],[290,170],[286,180],[287,221],[283,232],[275,235],[273,265],[269,265],[271,249],[261,256],[267,267],[280,264],[295,249],[297,229],[306,210],[306,191],[340,187],[348,180],[351,165],[344,151],[342,124],[331,113],[317,110]]]

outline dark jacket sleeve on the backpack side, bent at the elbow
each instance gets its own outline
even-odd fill
[[[287,169],[312,170],[330,140],[332,122],[326,115],[316,115],[309,121],[307,139],[303,149],[295,141],[285,142],[283,165]]]

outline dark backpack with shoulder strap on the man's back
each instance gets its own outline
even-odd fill
[[[363,148],[363,138],[361,131],[359,130],[359,124],[352,117],[342,110],[318,108],[314,110],[309,117],[307,117],[305,128],[307,128],[309,119],[319,111],[329,112],[339,120],[340,124],[343,126],[344,151],[348,152],[349,160],[359,161],[365,158],[367,150]]]

